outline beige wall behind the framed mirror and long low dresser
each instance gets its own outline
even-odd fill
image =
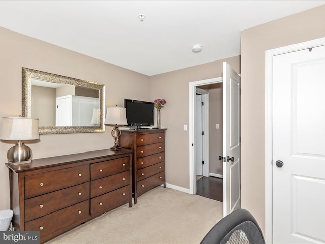
[[[21,114],[22,67],[106,85],[106,105],[124,105],[124,98],[149,100],[149,77],[46,42],[0,28],[0,116]],[[0,126],[2,119],[0,119]],[[34,158],[79,153],[111,147],[105,133],[41,135],[27,143]],[[0,142],[0,210],[10,207],[6,154],[14,142]]]

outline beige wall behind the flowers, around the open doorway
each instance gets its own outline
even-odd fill
[[[196,55],[196,54],[193,54]],[[164,98],[161,124],[166,131],[166,181],[189,189],[189,82],[222,76],[222,63],[240,73],[240,56],[150,77],[150,98]]]

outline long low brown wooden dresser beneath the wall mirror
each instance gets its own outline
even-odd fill
[[[44,243],[128,203],[133,150],[99,150],[35,159],[9,168],[15,230],[40,231]]]

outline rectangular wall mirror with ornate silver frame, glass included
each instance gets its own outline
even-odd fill
[[[105,85],[22,68],[22,116],[40,134],[105,132]]]

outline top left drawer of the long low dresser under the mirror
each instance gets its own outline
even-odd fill
[[[25,177],[25,199],[89,181],[89,165]]]

